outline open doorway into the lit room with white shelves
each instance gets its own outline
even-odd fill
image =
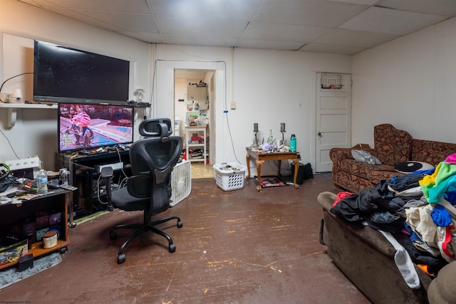
[[[197,113],[198,125],[206,125],[206,137],[204,145],[206,145],[206,162],[201,162],[201,159],[192,159],[190,155],[186,155],[187,159],[192,161],[192,177],[205,178],[213,177],[212,167],[207,164],[214,164],[214,140],[211,140],[211,132],[214,129],[214,73],[215,70],[203,69],[183,69],[175,68],[175,135],[182,137],[184,145],[187,145],[191,138],[187,138],[185,126],[189,124],[188,117]],[[191,90],[198,87],[198,96],[195,98]],[[201,94],[204,97],[201,98]],[[192,96],[190,96],[190,95]],[[204,153],[204,149],[202,149]],[[199,151],[197,151],[199,153]],[[199,169],[199,167],[201,167]],[[207,169],[209,167],[209,169]],[[195,172],[195,173],[194,173]]]

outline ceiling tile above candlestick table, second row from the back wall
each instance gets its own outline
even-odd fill
[[[330,28],[316,26],[252,21],[247,26],[242,38],[309,42],[329,30]]]

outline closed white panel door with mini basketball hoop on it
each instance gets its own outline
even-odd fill
[[[315,130],[315,172],[331,172],[329,150],[351,146],[351,75],[316,73]]]

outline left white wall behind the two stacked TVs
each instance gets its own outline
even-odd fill
[[[19,1],[1,0],[0,11],[0,83],[19,73],[33,71],[33,39],[40,39],[129,60],[132,65],[130,99],[135,99],[133,92],[136,88],[145,89],[145,100],[150,99],[152,48],[149,43],[88,26]],[[24,41],[28,41],[25,45],[32,43],[31,49],[24,46]],[[4,84],[1,92],[12,93],[21,88],[24,99],[31,100],[32,80],[31,75],[14,78]],[[38,155],[45,169],[54,169],[56,117],[56,110],[19,110],[16,125],[9,128],[6,126],[6,110],[0,108],[0,130],[3,132],[0,135],[0,162]],[[137,132],[135,138],[139,138]]]

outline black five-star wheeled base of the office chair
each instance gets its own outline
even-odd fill
[[[145,224],[118,225],[118,226],[115,226],[113,229],[110,229],[109,238],[111,240],[115,240],[118,238],[117,232],[115,232],[116,229],[136,229],[135,233],[132,236],[130,236],[127,239],[127,241],[125,241],[123,243],[122,246],[120,246],[120,249],[118,252],[118,260],[117,260],[118,263],[120,264],[120,263],[125,262],[125,253],[123,253],[123,251],[125,251],[125,247],[128,245],[128,243],[130,243],[131,241],[136,239],[138,236],[140,236],[140,234],[142,234],[143,232],[146,232],[146,231],[152,231],[155,234],[159,234],[160,236],[163,236],[168,241],[168,251],[170,251],[170,253],[175,252],[176,245],[175,245],[175,243],[172,242],[171,236],[169,236],[164,231],[157,229],[157,227],[155,227],[159,224],[163,224],[163,223],[165,223],[167,221],[171,221],[173,219],[177,219],[177,228],[182,228],[183,223],[179,217],[169,216],[165,219],[158,219],[157,221],[148,221]]]

